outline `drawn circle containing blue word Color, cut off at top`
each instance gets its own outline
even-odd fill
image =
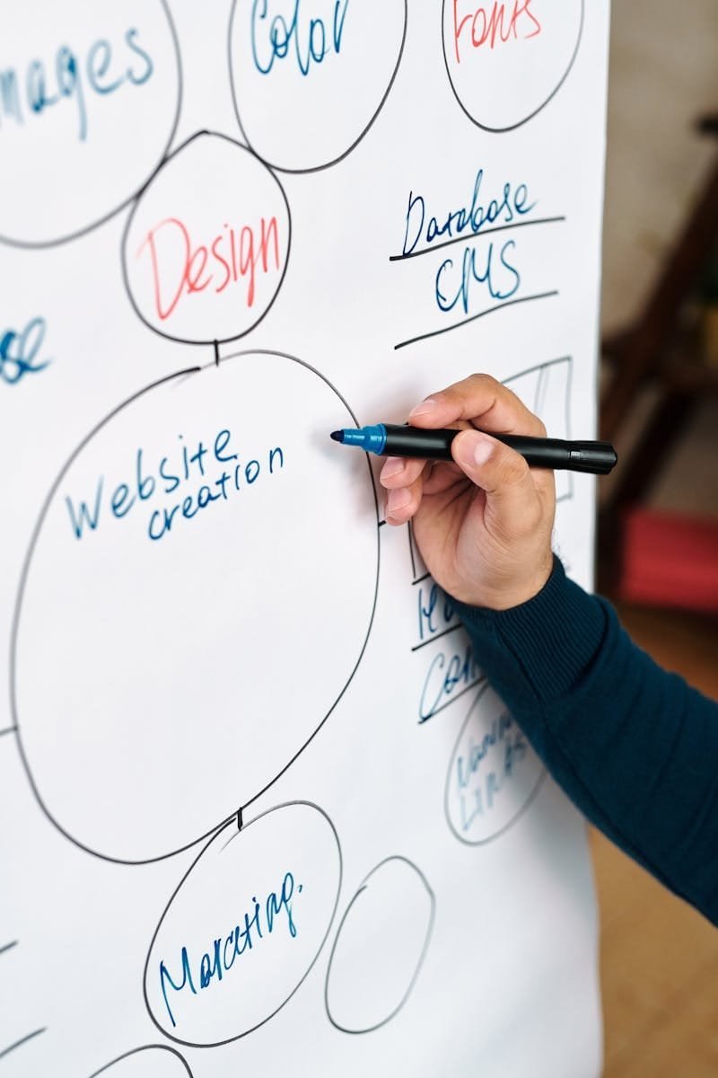
[[[284,172],[351,153],[394,84],[407,11],[408,0],[235,0],[229,78],[254,152]]]

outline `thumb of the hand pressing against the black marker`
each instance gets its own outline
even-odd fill
[[[487,496],[490,517],[510,539],[536,525],[538,492],[520,453],[480,430],[463,430],[451,443],[451,454],[464,474]]]

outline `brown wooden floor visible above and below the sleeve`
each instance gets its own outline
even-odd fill
[[[662,666],[718,699],[718,619],[628,606],[619,612]],[[604,1078],[718,1078],[718,929],[603,835],[594,832],[591,841],[602,922]]]

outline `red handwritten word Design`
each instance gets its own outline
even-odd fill
[[[167,217],[150,229],[137,257],[150,255],[157,317],[165,321],[183,296],[212,288],[224,292],[230,285],[247,282],[244,302],[254,303],[258,274],[280,270],[279,226],[277,218],[259,219],[257,227],[223,231],[209,244],[195,244],[187,226],[175,217]]]

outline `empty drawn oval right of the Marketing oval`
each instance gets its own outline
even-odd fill
[[[329,956],[324,1003],[337,1029],[371,1033],[402,1010],[426,956],[435,907],[426,879],[406,857],[388,857],[369,872]]]

